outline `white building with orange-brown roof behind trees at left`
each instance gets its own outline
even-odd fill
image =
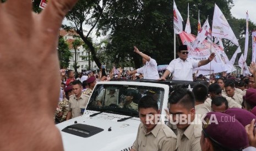
[[[60,30],[59,35],[63,36],[64,40],[69,45],[69,51],[72,53],[72,56],[70,57],[69,67],[68,69],[74,69],[73,65],[75,62],[75,50],[73,48],[72,42],[74,42],[75,39],[81,39],[79,37],[79,34],[77,34],[74,31],[67,32],[66,30]],[[81,56],[85,57],[85,60],[82,60]],[[88,51],[86,51],[82,46],[78,47],[77,49],[77,64],[79,68],[77,69],[78,72],[81,72],[82,69],[87,69],[89,67],[89,58],[88,58]],[[96,70],[97,65],[96,63],[91,60],[91,69]]]

